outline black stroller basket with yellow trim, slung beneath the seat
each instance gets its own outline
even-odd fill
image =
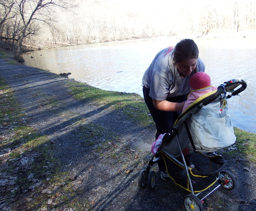
[[[181,188],[191,192],[185,167],[179,162],[179,158],[177,158],[177,160],[175,158],[171,159],[166,153],[162,151],[160,151],[160,153],[166,165],[167,173],[171,179]],[[219,171],[225,167],[226,162],[220,155],[210,157],[201,154],[200,159],[203,160],[204,164],[199,164],[197,159],[193,161],[193,164],[203,165],[203,169],[200,169],[199,171],[195,168],[188,167],[188,173],[194,192],[202,192],[215,184],[218,179]],[[209,160],[208,164],[206,164],[207,160]]]

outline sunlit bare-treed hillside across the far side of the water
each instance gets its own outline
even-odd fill
[[[255,0],[0,0],[0,36],[19,46],[256,30]]]

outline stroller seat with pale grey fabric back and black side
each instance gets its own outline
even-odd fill
[[[195,102],[179,116],[173,128],[175,136],[168,144],[162,145],[163,152],[169,152],[173,156],[179,156],[179,146],[189,152],[214,152],[235,143],[236,136],[228,114],[228,103],[225,95],[219,95],[209,104],[203,106],[203,102],[212,98],[216,91],[207,93]],[[221,105],[225,104],[221,109]],[[174,141],[174,139],[179,141]]]

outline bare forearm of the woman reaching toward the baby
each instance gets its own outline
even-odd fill
[[[158,101],[155,99],[153,100],[154,107],[158,110],[162,111],[182,111],[183,106],[186,101],[184,102],[169,102],[167,100]]]

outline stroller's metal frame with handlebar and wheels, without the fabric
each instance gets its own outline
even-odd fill
[[[233,90],[235,89],[237,86],[242,85],[239,89],[237,90]],[[219,96],[221,96],[221,94],[224,92],[224,94],[226,95],[226,90],[233,90],[231,92],[231,95],[226,96],[226,98],[231,98],[232,96],[235,96],[237,94],[239,94],[240,92],[244,91],[246,89],[246,82],[244,82],[243,80],[238,80],[238,79],[232,79],[229,80],[228,82],[224,82],[222,85],[220,85],[217,89],[217,91],[214,94],[209,95],[208,97],[204,98],[203,100],[197,102],[197,103],[193,103],[191,104],[191,106],[189,106],[186,111],[196,111],[198,109],[200,109],[203,106],[206,106],[207,104],[213,102],[215,99],[219,98]],[[193,184],[191,181],[191,177],[190,177],[190,172],[191,172],[191,167],[187,166],[187,162],[185,160],[185,157],[183,155],[183,151],[179,142],[179,138],[177,136],[177,130],[176,128],[181,125],[184,121],[187,120],[187,118],[190,117],[190,115],[187,115],[188,112],[183,112],[177,119],[177,121],[175,122],[174,125],[174,130],[171,134],[171,138],[175,137],[177,144],[178,144],[178,148],[179,148],[179,156],[181,157],[181,161],[177,160],[176,157],[177,155],[171,155],[168,152],[162,152],[161,151],[161,147],[163,145],[168,144],[168,141],[171,141],[171,138],[167,138],[164,139],[163,138],[163,142],[162,144],[158,147],[158,152],[153,155],[150,159],[150,161],[148,162],[148,165],[146,167],[146,170],[142,169],[139,173],[138,176],[138,186],[139,188],[146,188],[146,185],[148,186],[149,189],[153,189],[154,188],[154,184],[155,184],[155,172],[154,171],[150,171],[150,168],[158,162],[158,160],[160,159],[164,159],[163,158],[163,154],[167,153],[170,154],[171,156],[171,160],[174,161],[177,165],[179,165],[180,167],[184,168],[186,171],[186,176],[187,176],[187,180],[189,183],[189,189],[184,188],[183,186],[179,185],[181,188],[184,188],[188,191],[190,191],[190,194],[187,194],[184,198],[183,198],[183,205],[185,207],[185,209],[187,211],[203,211],[203,200],[206,199],[209,195],[211,195],[212,193],[214,193],[215,191],[217,191],[219,188],[225,188],[225,189],[233,189],[236,187],[236,180],[235,177],[228,171],[223,170],[226,162],[224,161],[223,164],[220,166],[220,168],[218,168],[217,170],[215,170],[214,172],[210,172],[210,174],[216,174],[217,178],[214,181],[213,184],[215,184],[216,181],[218,181],[218,185],[217,187],[215,187],[212,191],[210,191],[207,195],[205,195],[202,199],[199,199],[197,196],[200,195],[203,191],[194,191],[193,188]],[[193,141],[190,137],[190,141],[191,141],[191,145],[193,145]],[[198,152],[199,150],[195,150],[194,148],[194,152]],[[199,152],[201,153],[201,152]],[[161,156],[160,156],[161,154]],[[202,155],[204,155],[203,153],[201,153]],[[212,157],[218,157],[219,155],[215,154],[215,152],[208,152],[207,155],[212,155]],[[169,156],[169,155],[168,155]],[[210,157],[210,156],[208,156]],[[220,156],[222,157],[222,156]],[[155,158],[155,159],[154,159]],[[166,162],[165,162],[166,163]],[[218,165],[219,166],[219,165]],[[168,169],[167,169],[168,172]],[[168,173],[169,175],[169,173]],[[170,175],[169,175],[170,176]],[[171,176],[170,176],[171,177]],[[173,179],[171,177],[171,179]],[[174,179],[173,179],[174,180]],[[174,180],[175,182],[175,180]],[[175,184],[177,184],[175,182]],[[213,184],[209,185],[206,189],[210,188]]]

